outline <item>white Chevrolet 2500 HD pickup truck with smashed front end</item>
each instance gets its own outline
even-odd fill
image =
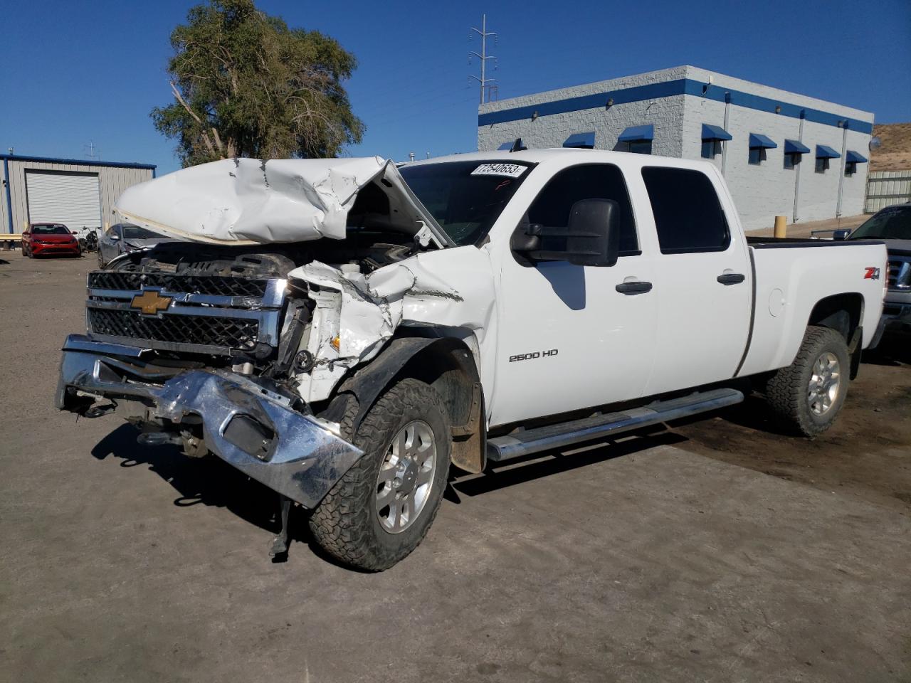
[[[812,436],[883,307],[885,246],[744,236],[709,163],[544,149],[227,159],[128,189],[178,238],[88,275],[56,405],[215,454],[382,570],[450,465],[500,462],[742,401]]]

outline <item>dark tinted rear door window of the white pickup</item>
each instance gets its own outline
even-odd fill
[[[688,168],[642,168],[662,254],[723,251],[731,231],[711,180]]]

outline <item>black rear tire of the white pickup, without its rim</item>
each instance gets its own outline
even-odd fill
[[[833,354],[838,361],[838,387],[831,406],[824,413],[817,413],[812,407],[810,382],[817,360],[827,353]],[[844,337],[827,327],[810,326],[793,363],[774,372],[766,384],[766,400],[785,426],[804,436],[816,436],[832,426],[841,410],[850,372],[851,362]]]

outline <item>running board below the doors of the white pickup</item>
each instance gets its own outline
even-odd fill
[[[548,424],[545,427],[513,432],[487,439],[487,460],[498,463],[554,448],[565,448],[583,441],[611,438],[615,434],[705,413],[741,403],[742,400],[742,392],[735,389],[712,389],[670,401],[656,401],[622,413],[595,415],[569,423]]]

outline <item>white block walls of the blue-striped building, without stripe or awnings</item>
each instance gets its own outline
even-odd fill
[[[730,88],[758,97],[767,97],[798,107],[824,111],[836,117],[854,118],[873,124],[873,114],[851,107],[843,107],[824,100],[805,97],[773,87],[762,86],[732,76],[706,71],[694,66],[679,66],[653,71],[637,76],[600,81],[585,86],[568,87],[536,95],[515,97],[490,102],[478,109],[478,114],[533,107],[535,105],[609,92],[628,87],[689,78],[708,83],[715,92]],[[606,97],[605,97],[606,99]],[[549,116],[531,117],[478,127],[477,148],[494,150],[504,142],[522,138],[528,148],[558,148],[573,133],[595,131],[595,147],[618,148],[617,138],[627,127],[654,125],[652,154],[701,158],[702,124],[723,126],[724,102],[681,95],[653,100],[596,107],[582,111]],[[804,121],[803,141],[810,153],[804,154],[797,168],[783,168],[784,140],[801,139],[800,119],[773,112],[741,107],[735,102],[730,106],[727,131],[733,139],[727,143],[725,178],[731,189],[745,229],[772,227],[775,216],[786,216],[788,222],[831,219],[835,217],[838,198],[838,181],[843,173],[843,158],[830,159],[830,168],[823,174],[815,172],[816,145],[826,145],[842,153],[843,131],[839,127]],[[749,164],[749,138],[751,133],[761,133],[778,144],[766,150],[766,159],[759,166]],[[869,157],[870,135],[848,129],[845,149],[855,150]],[[715,158],[722,167],[722,155]],[[795,177],[800,174],[798,202],[794,206]],[[843,216],[854,216],[864,210],[867,164],[858,164],[855,175],[844,178],[842,198]]]

